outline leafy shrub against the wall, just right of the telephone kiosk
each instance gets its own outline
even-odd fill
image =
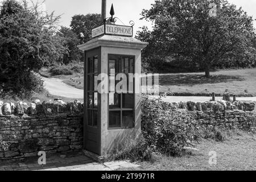
[[[199,127],[193,113],[172,111],[159,99],[142,99],[142,134],[148,148],[161,154],[180,156],[185,145],[199,138]]]

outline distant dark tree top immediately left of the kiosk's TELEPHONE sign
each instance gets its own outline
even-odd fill
[[[92,38],[92,29],[100,24],[100,14],[80,14],[72,17],[70,26],[71,30],[78,36],[80,44],[83,44]]]

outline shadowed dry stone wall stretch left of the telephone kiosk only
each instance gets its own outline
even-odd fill
[[[82,149],[83,105],[79,102],[0,105],[0,159]]]

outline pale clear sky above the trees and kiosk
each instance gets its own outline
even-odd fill
[[[3,0],[0,0],[0,2]],[[22,0],[18,0],[22,1]],[[31,1],[31,0],[28,0]],[[32,0],[43,2],[44,0]],[[256,0],[228,0],[230,3],[242,6],[243,10],[253,16],[256,19]],[[139,27],[148,26],[151,27],[151,22],[146,20],[139,20],[141,18],[141,12],[143,9],[150,9],[151,4],[155,0],[106,0],[107,2],[107,14],[109,17],[110,7],[113,3],[115,15],[126,25],[129,25],[130,20],[135,22],[134,31],[137,32]],[[55,11],[56,15],[62,15],[60,25],[69,27],[71,17],[76,14],[88,14],[88,13],[101,13],[101,0],[46,0],[44,5],[40,7],[42,10],[47,10],[48,13]],[[117,22],[117,24],[122,24]],[[254,22],[256,27],[256,21]]]

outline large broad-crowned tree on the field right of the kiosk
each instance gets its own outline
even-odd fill
[[[192,60],[205,69],[217,61],[238,61],[250,57],[255,61],[253,18],[225,0],[215,0],[217,16],[209,14],[208,0],[156,0],[142,19],[152,21],[152,31],[144,28],[137,38],[150,45],[146,56],[171,56]]]

